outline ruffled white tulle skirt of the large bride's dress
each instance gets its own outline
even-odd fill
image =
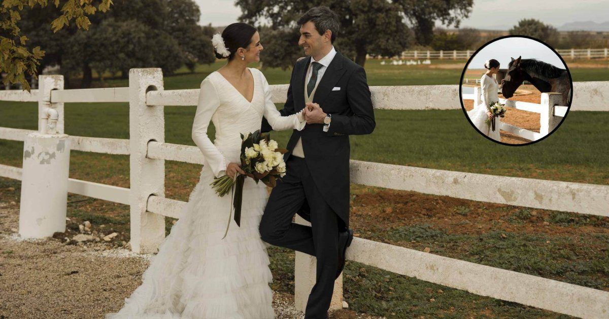
[[[119,318],[275,318],[269,287],[268,245],[258,225],[268,198],[264,184],[246,178],[241,227],[231,219],[231,194],[219,197],[203,167],[181,218],[142,276],[143,283],[117,313]]]

